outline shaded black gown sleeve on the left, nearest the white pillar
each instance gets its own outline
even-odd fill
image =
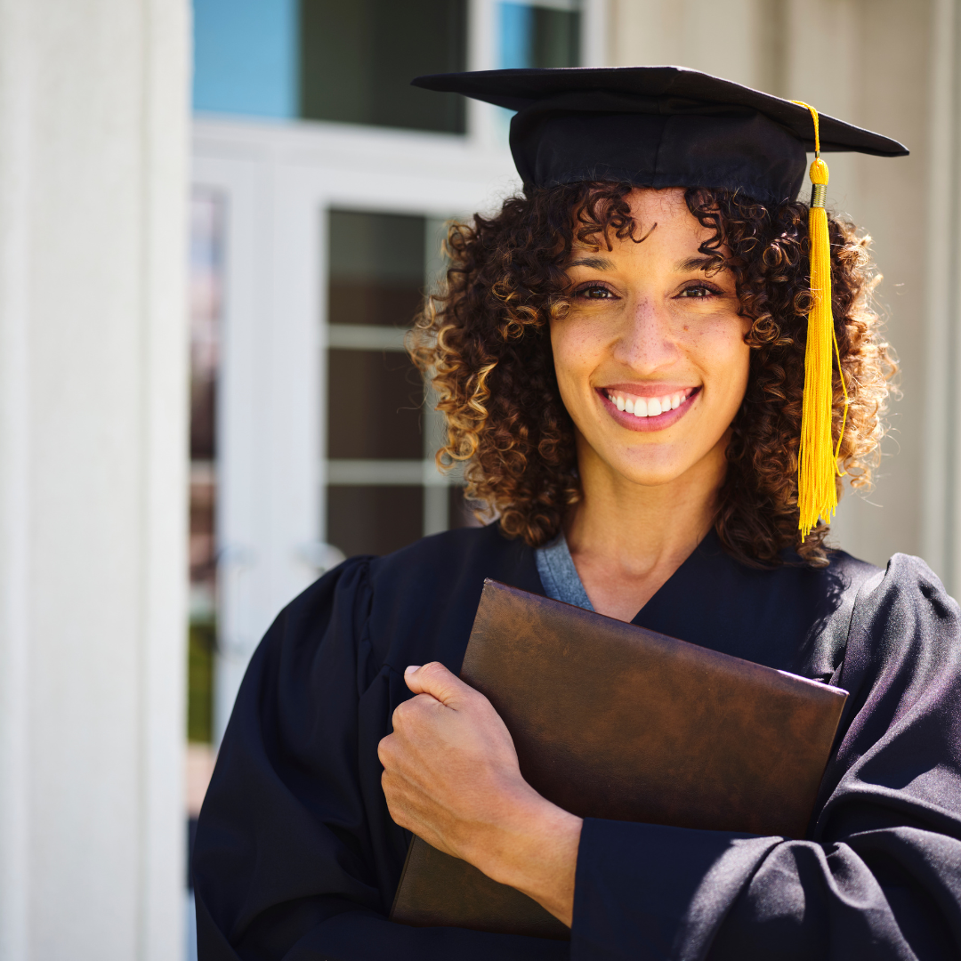
[[[566,943],[387,921],[410,835],[387,812],[377,744],[409,692],[374,651],[372,603],[370,561],[347,561],[251,660],[194,844],[200,961],[567,958]]]

